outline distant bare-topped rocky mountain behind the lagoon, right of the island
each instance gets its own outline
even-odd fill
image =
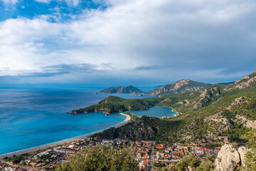
[[[151,90],[150,92],[148,92],[148,95],[159,97],[162,97],[164,95],[176,95],[188,91],[198,91],[206,86],[209,85],[205,83],[198,83],[191,80],[181,80],[172,84],[167,84],[158,89]]]

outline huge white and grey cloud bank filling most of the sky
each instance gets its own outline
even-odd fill
[[[67,3],[77,6],[79,1]],[[228,72],[248,61],[252,62],[244,70],[253,68],[255,1],[109,0],[106,4],[111,4],[106,10],[86,10],[64,23],[51,23],[54,16],[43,15],[2,21],[1,76],[43,72],[43,66],[63,63],[105,69],[108,65],[100,64],[111,63],[110,76],[162,81],[193,74],[209,80],[221,73],[230,76]],[[138,66],[143,69],[130,69]],[[199,73],[215,74],[203,78]]]

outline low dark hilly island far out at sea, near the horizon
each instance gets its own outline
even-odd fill
[[[101,90],[100,93],[143,93],[143,91],[133,86],[117,86]]]

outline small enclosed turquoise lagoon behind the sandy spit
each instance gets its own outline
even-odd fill
[[[149,110],[133,110],[130,111],[133,115],[138,115],[139,117],[146,116],[155,116],[157,118],[165,117],[165,116],[173,116],[176,113],[172,111],[172,108],[155,106],[153,108],[149,108]]]

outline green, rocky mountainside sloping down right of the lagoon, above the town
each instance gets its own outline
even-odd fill
[[[146,103],[152,99],[140,100]],[[256,73],[230,85],[215,84],[196,92],[155,98],[152,105],[173,108],[179,115],[165,119],[144,116],[96,137],[202,143],[221,142],[220,135],[227,135],[230,142],[247,142],[241,135],[256,129]]]

